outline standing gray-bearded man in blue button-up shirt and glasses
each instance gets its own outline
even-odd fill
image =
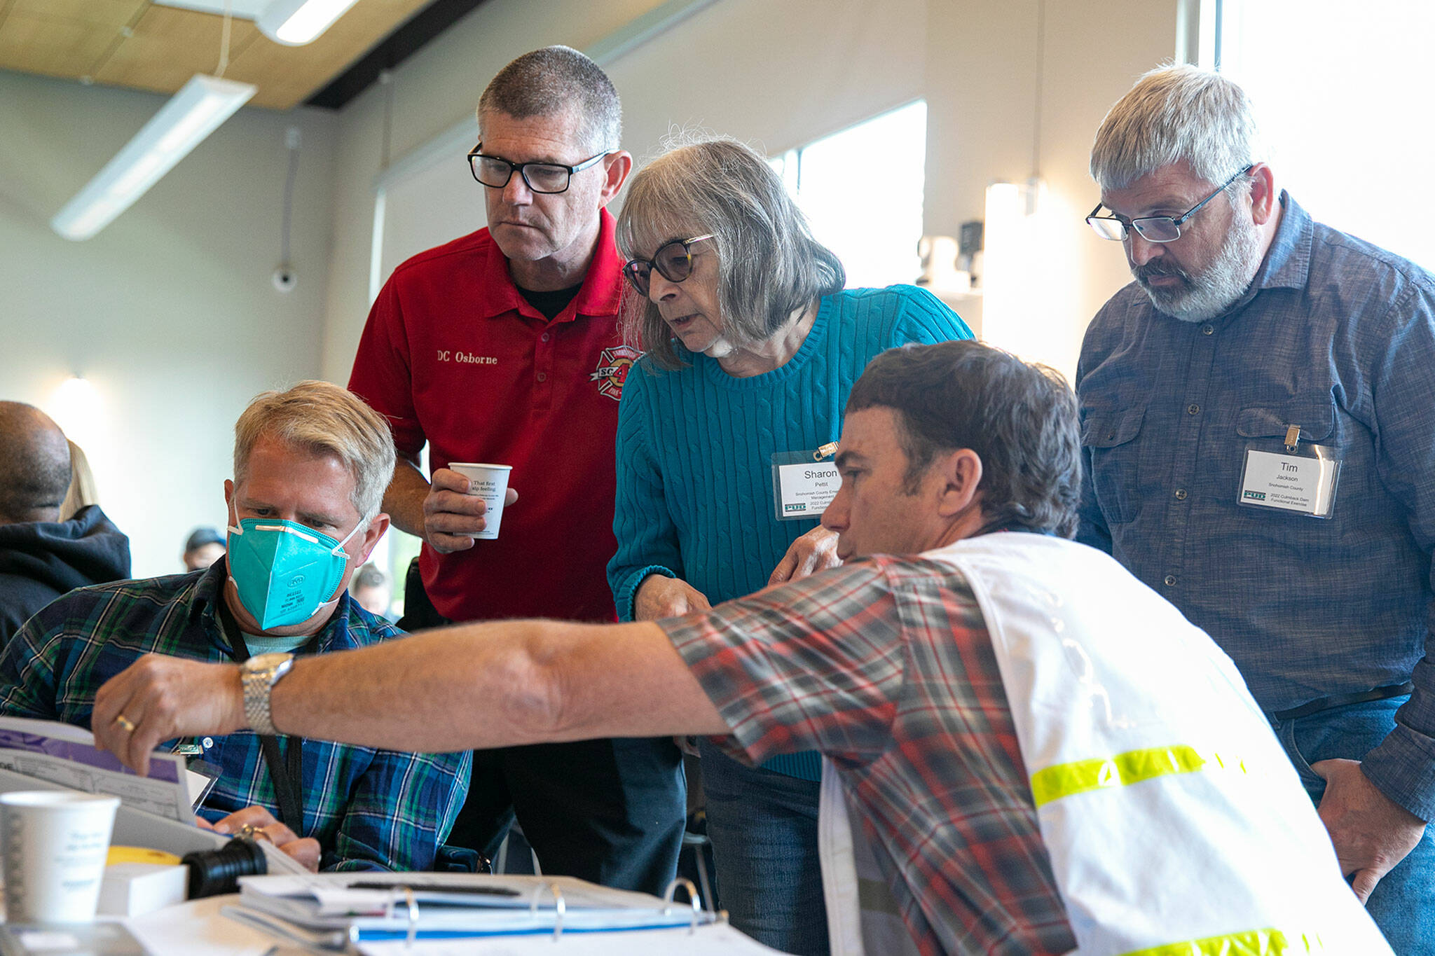
[[[1207,631],[1398,953],[1435,947],[1435,277],[1313,222],[1250,102],[1147,73],[1086,222],[1135,282],[1076,370],[1079,540]]]

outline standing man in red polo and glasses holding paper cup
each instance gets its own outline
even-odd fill
[[[621,262],[604,211],[633,166],[621,106],[593,60],[554,46],[494,77],[478,125],[469,159],[488,228],[393,271],[349,387],[393,426],[385,510],[423,537],[443,618],[613,621],[613,439],[637,358],[617,333]],[[449,462],[512,466],[522,499],[509,494],[497,539],[474,540],[482,502]],[[660,893],[682,844],[680,755],[666,738],[476,752],[449,840],[492,856],[514,813],[544,871]]]

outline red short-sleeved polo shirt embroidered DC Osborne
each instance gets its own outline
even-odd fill
[[[518,502],[495,540],[419,566],[453,621],[613,621],[613,439],[637,353],[617,333],[613,216],[578,295],[554,320],[530,305],[479,229],[393,271],[359,341],[349,388],[389,419],[399,451],[429,464],[511,464]],[[402,466],[400,466],[402,467]]]

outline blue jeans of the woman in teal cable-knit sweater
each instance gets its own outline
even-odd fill
[[[699,748],[718,899],[729,920],[765,946],[827,956],[817,843],[821,784],[748,767],[706,740]]]

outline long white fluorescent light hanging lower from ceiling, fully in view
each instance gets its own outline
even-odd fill
[[[90,238],[145,195],[257,89],[251,83],[195,75],[55,214],[50,226],[66,239]]]

